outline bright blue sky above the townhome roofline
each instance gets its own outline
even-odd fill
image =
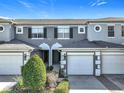
[[[0,0],[0,17],[33,19],[124,17],[124,0]]]

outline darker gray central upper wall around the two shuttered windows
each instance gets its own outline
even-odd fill
[[[42,43],[47,43],[50,46],[54,43],[58,42],[60,44],[66,44],[72,41],[78,41],[86,39],[86,34],[78,34],[78,27],[73,27],[73,38],[66,39],[66,40],[59,40],[54,38],[54,27],[47,27],[47,38],[45,39],[30,39],[28,38],[28,30],[27,28],[24,29],[23,34],[16,34],[16,39],[28,42],[30,44],[39,46]]]

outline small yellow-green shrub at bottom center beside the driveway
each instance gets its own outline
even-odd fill
[[[63,80],[56,87],[55,93],[68,93],[68,91],[69,91],[69,82],[68,80]]]

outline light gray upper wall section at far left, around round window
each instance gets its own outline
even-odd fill
[[[10,24],[4,24],[2,26],[4,26],[4,31],[0,32],[0,41],[8,42],[14,39],[13,26],[11,26]]]

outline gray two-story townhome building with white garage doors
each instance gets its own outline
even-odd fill
[[[35,53],[64,75],[124,74],[124,19],[0,19],[0,75]]]

